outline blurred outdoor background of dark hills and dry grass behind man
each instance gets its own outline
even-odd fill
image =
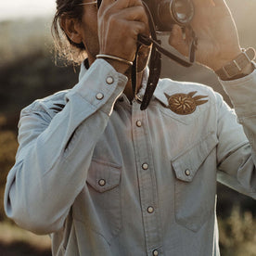
[[[237,22],[241,46],[256,48],[256,1],[226,2]],[[50,33],[54,11],[54,0],[0,3],[0,255],[51,255],[49,237],[35,236],[6,218],[3,198],[18,147],[20,109],[77,83],[79,68],[64,67],[61,60],[55,65]],[[162,41],[166,44],[165,37]],[[208,84],[230,104],[211,70],[198,65],[186,69],[166,58],[162,66],[162,77]],[[255,201],[218,185],[217,213],[222,255],[256,255]]]

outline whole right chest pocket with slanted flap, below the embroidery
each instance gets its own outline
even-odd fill
[[[216,195],[215,134],[208,134],[198,144],[172,160],[175,179],[176,223],[197,232],[211,217]]]

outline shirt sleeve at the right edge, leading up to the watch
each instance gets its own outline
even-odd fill
[[[256,71],[241,79],[221,83],[236,113],[223,100],[217,101],[218,180],[256,198]]]

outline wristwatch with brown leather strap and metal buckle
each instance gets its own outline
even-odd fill
[[[243,70],[248,66],[249,63],[252,64],[252,59],[255,58],[255,50],[250,47],[248,49],[243,49],[237,58],[234,58],[227,64],[225,64],[221,69],[216,70],[215,73],[222,80],[231,80],[243,77],[245,74]],[[253,65],[254,67],[254,65]]]

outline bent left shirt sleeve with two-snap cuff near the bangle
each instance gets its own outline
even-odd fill
[[[19,149],[6,182],[9,218],[37,234],[62,227],[126,83],[124,75],[97,59],[66,94],[66,105],[54,118],[47,101],[21,111]]]

